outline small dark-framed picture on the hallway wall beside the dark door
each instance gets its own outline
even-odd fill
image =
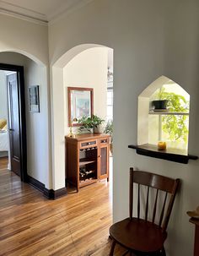
[[[29,87],[30,112],[40,112],[39,85]]]

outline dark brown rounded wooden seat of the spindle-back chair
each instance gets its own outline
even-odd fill
[[[134,252],[159,252],[167,237],[162,228],[142,219],[127,218],[110,226],[110,237]]]

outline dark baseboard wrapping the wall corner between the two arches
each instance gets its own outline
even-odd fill
[[[67,188],[60,188],[57,190],[45,188],[45,184],[39,182],[34,177],[30,177],[29,175],[27,177],[27,182],[34,188],[40,190],[40,192],[42,192],[48,199],[58,199],[67,194]]]

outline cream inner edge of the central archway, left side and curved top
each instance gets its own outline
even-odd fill
[[[95,47],[106,47],[100,44],[81,44],[65,52],[52,64],[51,73],[51,148],[52,148],[52,187],[59,189],[65,187],[65,98],[63,69],[73,57],[80,52]],[[111,49],[111,48],[109,48]]]

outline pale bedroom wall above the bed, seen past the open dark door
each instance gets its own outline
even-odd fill
[[[0,118],[8,120],[7,80],[6,74],[0,70]]]

